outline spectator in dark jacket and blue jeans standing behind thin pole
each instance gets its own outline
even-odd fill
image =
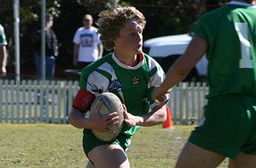
[[[55,57],[58,56],[58,40],[52,26],[54,18],[52,14],[45,15],[45,77],[52,79],[55,77]],[[37,76],[41,76],[41,30],[37,31],[35,64]]]

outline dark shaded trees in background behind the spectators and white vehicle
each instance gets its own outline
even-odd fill
[[[0,0],[0,24],[9,39],[9,63],[14,63],[14,9],[13,0]],[[82,26],[84,14],[97,15],[106,8],[132,5],[146,17],[143,39],[187,33],[194,21],[205,12],[218,8],[224,0],[47,0],[46,12],[55,16],[53,29],[61,42],[57,65],[70,66],[74,32]],[[5,16],[5,17],[3,17]],[[33,32],[41,24],[41,1],[20,0],[20,60],[33,64]],[[96,26],[96,25],[95,25]],[[9,64],[11,65],[11,64]]]

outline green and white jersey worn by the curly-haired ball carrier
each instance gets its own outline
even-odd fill
[[[131,67],[122,64],[114,53],[108,53],[82,70],[79,87],[96,95],[113,92],[132,115],[147,114],[150,106],[154,106],[151,93],[154,87],[164,81],[165,73],[147,54],[140,56],[143,60]],[[133,135],[139,127],[130,127],[124,123],[122,132]]]

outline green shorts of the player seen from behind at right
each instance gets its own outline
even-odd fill
[[[191,132],[189,142],[231,159],[239,152],[256,155],[256,97],[209,99],[205,120]]]

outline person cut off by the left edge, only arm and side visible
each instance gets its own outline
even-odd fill
[[[6,76],[6,66],[7,66],[7,59],[8,59],[8,53],[7,53],[7,40],[4,33],[3,26],[0,25],[0,63],[1,64],[1,74],[0,76]]]

